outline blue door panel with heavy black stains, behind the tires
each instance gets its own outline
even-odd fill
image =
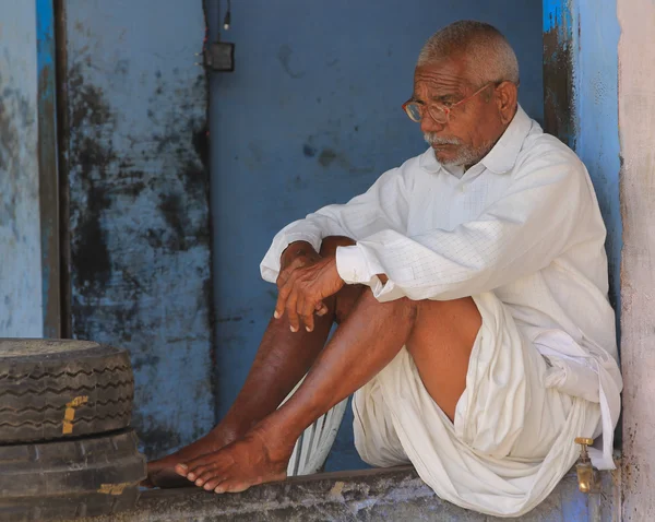
[[[204,435],[212,383],[201,2],[68,0],[72,328],[129,348],[148,456]]]

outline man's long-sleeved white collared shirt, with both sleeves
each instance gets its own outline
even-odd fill
[[[614,468],[622,381],[605,225],[582,162],[521,107],[465,173],[446,169],[429,149],[348,203],[291,223],[275,236],[262,276],[275,282],[290,242],[318,251],[326,236],[357,241],[337,249],[338,273],[370,286],[380,301],[493,292],[552,364],[546,385],[600,404],[603,451],[592,450],[592,459]]]

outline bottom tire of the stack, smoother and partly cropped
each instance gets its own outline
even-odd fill
[[[133,509],[146,476],[131,429],[0,447],[0,520],[72,520]]]

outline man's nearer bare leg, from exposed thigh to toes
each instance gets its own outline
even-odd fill
[[[284,406],[242,439],[181,463],[176,470],[195,485],[216,493],[240,491],[285,478],[302,430],[368,382],[404,345],[426,389],[452,419],[480,324],[471,298],[380,304],[367,290]]]

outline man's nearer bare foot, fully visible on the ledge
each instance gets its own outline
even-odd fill
[[[291,443],[271,437],[273,430],[253,428],[222,450],[178,464],[176,472],[207,491],[238,493],[250,486],[284,481],[294,451]]]

